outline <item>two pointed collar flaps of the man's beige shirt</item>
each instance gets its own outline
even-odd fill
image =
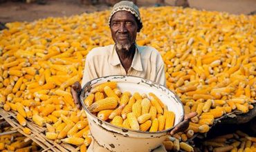
[[[112,66],[117,66],[117,65],[121,64],[121,61],[118,57],[118,53],[116,53],[115,45],[112,45],[110,49],[112,50],[111,56],[109,58],[110,64]],[[138,47],[137,44],[136,44],[136,51],[135,51],[134,59],[131,63],[131,68],[134,68],[134,70],[138,70],[138,71],[143,70],[143,65],[142,65],[142,61],[141,61],[141,57],[140,57],[140,48]]]

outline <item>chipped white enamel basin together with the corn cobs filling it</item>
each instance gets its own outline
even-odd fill
[[[80,102],[93,140],[110,151],[152,151],[184,117],[175,93],[134,76],[93,79]]]

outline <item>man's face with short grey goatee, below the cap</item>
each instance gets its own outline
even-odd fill
[[[118,50],[129,50],[135,42],[138,24],[130,12],[118,11],[111,18],[110,29]]]

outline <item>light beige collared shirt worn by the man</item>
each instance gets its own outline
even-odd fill
[[[133,75],[165,86],[165,70],[161,55],[155,48],[137,46],[128,73],[123,68],[114,45],[93,48],[86,55],[82,86],[91,79],[109,75]]]

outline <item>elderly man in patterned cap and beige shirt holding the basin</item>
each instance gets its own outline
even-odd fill
[[[161,55],[152,47],[136,44],[137,32],[143,28],[138,7],[131,1],[116,3],[109,17],[109,27],[115,44],[93,48],[86,56],[82,86],[91,79],[108,75],[134,75],[165,85]],[[78,82],[73,84],[71,93],[78,108],[81,108],[78,97],[80,91],[81,85]],[[186,115],[184,121],[177,125],[171,134],[187,129],[190,118],[195,115],[196,113]],[[165,151],[161,147],[158,151]],[[102,151],[102,147],[96,142],[92,142],[90,149]]]

